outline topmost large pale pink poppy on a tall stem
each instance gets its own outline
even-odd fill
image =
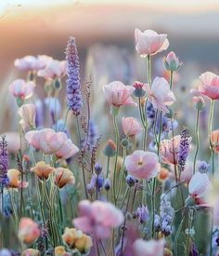
[[[146,30],[143,33],[135,29],[135,49],[141,57],[154,55],[166,50],[169,47],[167,34],[157,34],[152,30]]]

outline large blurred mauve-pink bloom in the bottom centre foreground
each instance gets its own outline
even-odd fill
[[[98,238],[108,238],[111,229],[122,224],[122,211],[111,203],[83,200],[79,203],[79,218],[73,224],[84,233],[95,233]]]

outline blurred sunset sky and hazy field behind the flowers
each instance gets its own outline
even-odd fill
[[[175,77],[175,93],[180,95],[175,108],[182,123],[187,124],[188,116],[183,114],[187,105],[192,105],[187,101],[191,99],[189,89],[198,83],[201,73],[219,70],[217,0],[0,0],[2,91],[14,79],[25,77],[14,68],[15,59],[46,54],[63,60],[67,40],[73,35],[82,82],[88,74],[93,76],[93,111],[97,116],[105,102],[99,97],[104,84],[113,80],[127,85],[135,80],[147,81],[146,61],[135,53],[135,28],[168,34],[170,47],[153,58],[153,77],[163,75],[161,58],[171,50],[184,62]],[[11,107],[11,99],[7,100],[4,93],[0,101]],[[11,121],[3,122],[11,117],[13,112],[0,116],[0,132],[13,129]]]

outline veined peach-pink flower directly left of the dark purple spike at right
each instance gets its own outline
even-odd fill
[[[176,165],[178,162],[180,135],[174,136],[174,139],[163,140],[160,144],[162,160],[166,164]]]

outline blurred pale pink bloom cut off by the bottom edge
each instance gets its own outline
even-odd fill
[[[163,256],[165,242],[161,240],[145,241],[141,238],[133,244],[135,256]]]

